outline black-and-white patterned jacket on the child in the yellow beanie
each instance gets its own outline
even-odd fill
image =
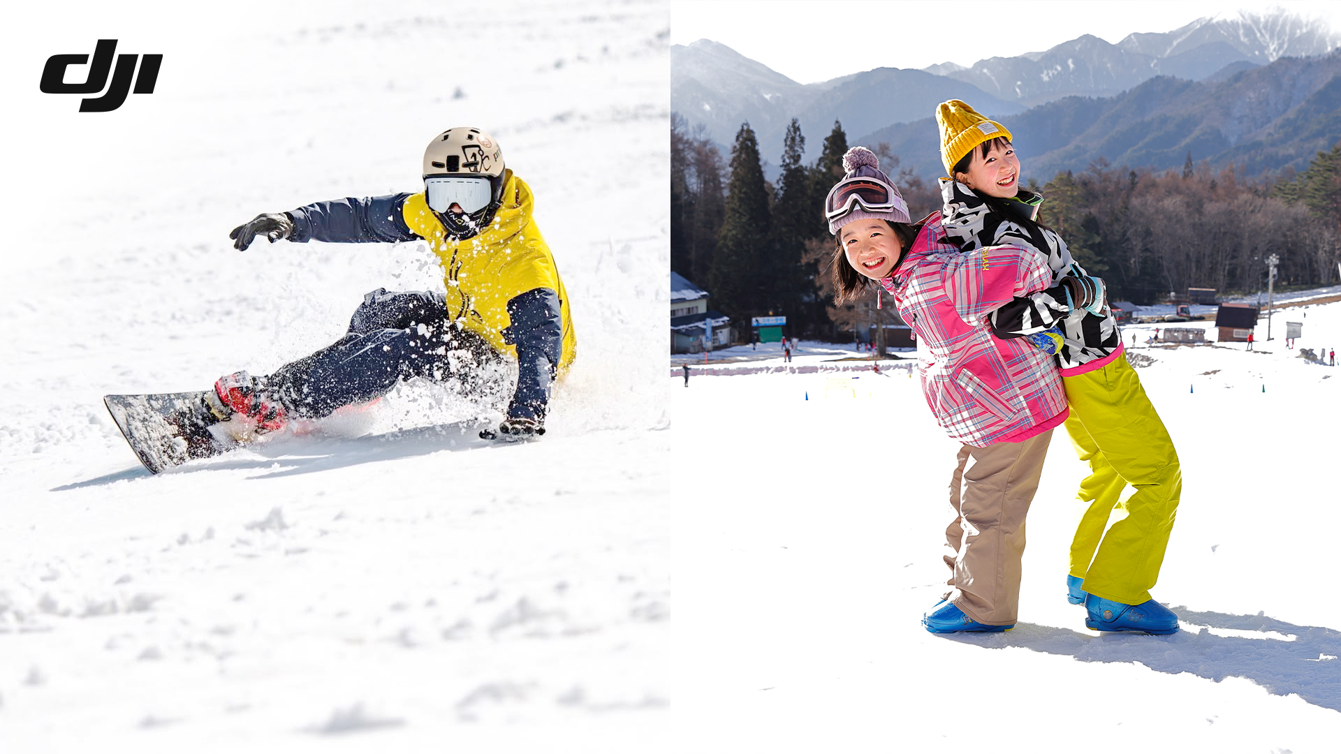
[[[1066,287],[1057,284],[1063,275],[1086,275],[1085,270],[1071,259],[1066,241],[1050,229],[1026,225],[1012,217],[1003,217],[959,181],[940,180],[940,195],[944,200],[941,223],[947,237],[959,244],[961,251],[975,251],[987,246],[1019,246],[1047,259],[1053,271],[1053,287],[1029,297],[1021,297],[998,309],[991,315],[992,331],[999,338],[1021,338],[1041,333],[1053,325],[1062,330],[1065,343],[1057,352],[1057,364],[1062,374],[1088,372],[1098,360],[1110,360],[1121,350],[1122,339],[1117,331],[1117,321],[1112,311],[1104,310],[1104,317],[1074,310],[1069,305]],[[1021,189],[1015,201],[1006,205],[1019,212],[1021,217],[1034,220],[1043,197]],[[1106,361],[1105,361],[1106,362]]]

